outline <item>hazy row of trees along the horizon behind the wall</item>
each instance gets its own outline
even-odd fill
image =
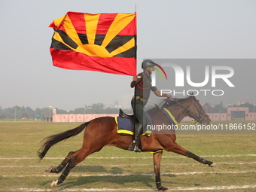
[[[211,105],[208,103],[210,108],[215,113],[227,113],[227,108],[224,107],[222,104],[220,105]],[[148,106],[147,109],[151,108],[152,106]],[[251,104],[251,103],[244,103],[241,105],[233,105],[232,107],[248,107],[249,112],[256,112],[256,106]],[[204,110],[208,113],[212,113],[212,111],[205,107]],[[75,108],[75,110],[71,111],[66,111],[63,109],[56,108],[56,113],[57,114],[117,114],[119,111],[119,108],[105,108],[105,106],[102,103],[96,103],[93,105],[88,106],[88,108]],[[132,114],[133,110],[131,108],[129,109],[123,109],[127,114]],[[35,119],[35,118],[47,118],[52,115],[52,109],[50,108],[35,108],[33,110],[32,108],[29,107],[19,107],[17,108],[16,106],[12,108],[1,108],[0,106],[0,119],[4,118],[28,118],[28,119]]]

